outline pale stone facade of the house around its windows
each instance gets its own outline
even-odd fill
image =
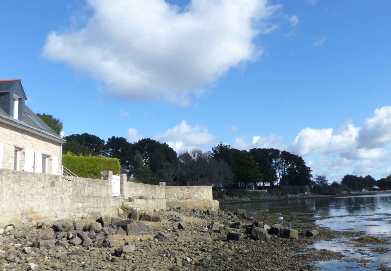
[[[61,155],[61,143],[57,143],[50,139],[41,137],[39,135],[27,132],[20,128],[16,128],[11,125],[0,122],[0,142],[3,143],[3,164],[2,168],[13,169],[14,168],[14,151],[15,147],[22,150],[31,150],[34,152],[40,152],[41,154],[48,155],[48,173],[52,173],[52,160],[50,157],[56,157],[57,160],[57,173],[60,172],[60,155]],[[24,156],[21,152],[19,170],[32,171],[24,168]]]

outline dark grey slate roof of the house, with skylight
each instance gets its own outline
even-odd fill
[[[14,87],[16,87],[16,83],[18,83],[18,81],[20,81],[20,79],[0,80],[0,92],[11,91]],[[17,84],[17,85],[21,85],[21,84]],[[24,90],[23,90],[23,94],[24,94]],[[2,108],[0,108],[0,118],[4,122],[15,123],[19,126],[29,128],[30,130],[40,132],[41,134],[45,134],[65,142],[65,140],[62,139],[59,135],[57,135],[56,132],[52,130],[52,128],[50,128],[45,122],[43,122],[41,118],[39,118],[34,112],[32,112],[32,110],[29,107],[27,107],[27,105],[24,105],[24,109],[25,109],[24,121],[14,119],[13,117],[9,116],[9,114],[7,114],[7,112],[5,112]]]

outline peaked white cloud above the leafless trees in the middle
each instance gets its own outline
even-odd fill
[[[154,139],[167,143],[175,151],[212,147],[216,137],[208,132],[203,126],[190,126],[185,120],[180,124],[168,129]]]

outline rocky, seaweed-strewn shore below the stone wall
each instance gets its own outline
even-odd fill
[[[313,270],[316,259],[341,257],[299,253],[327,230],[291,229],[276,214],[178,207],[121,216],[8,225],[0,270]]]

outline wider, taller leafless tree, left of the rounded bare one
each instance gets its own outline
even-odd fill
[[[202,185],[208,179],[209,162],[212,155],[200,149],[185,150],[179,153],[181,178],[190,185]]]

